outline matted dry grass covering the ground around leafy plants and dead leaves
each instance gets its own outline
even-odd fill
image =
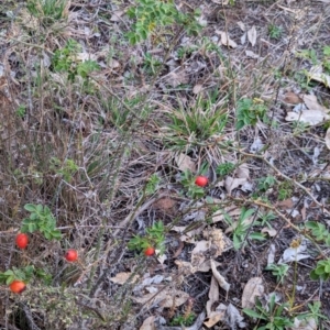
[[[329,284],[310,280],[312,260],[293,263],[292,276],[283,285],[264,272],[270,244],[276,245],[278,260],[292,240],[304,234],[306,219],[328,223],[326,128],[294,130],[285,121],[292,109],[285,96],[287,91],[312,91],[329,108],[329,88],[304,78],[302,70],[309,69],[312,59],[297,56],[298,51],[315,50],[320,58],[322,47],[329,46],[329,6],[319,1],[237,1],[224,7],[209,2],[202,7],[208,24],[197,37],[187,40],[178,26],[170,26],[134,46],[125,36],[132,21],[122,14],[130,6],[124,1],[64,1],[56,20],[40,7],[31,14],[25,2],[0,4],[0,272],[34,265],[51,276],[47,283],[33,276],[21,296],[1,286],[3,329],[139,329],[148,316],[155,316],[157,322],[164,317],[166,327],[157,329],[177,329],[169,327],[169,320],[185,315],[185,307],[176,307],[175,301],[167,308],[150,301],[136,304],[134,298],[144,294],[133,275],[170,277],[163,289],[187,293],[199,315],[208,300],[211,272],[186,274],[176,266],[176,260],[190,260],[194,245],[184,244],[170,228],[226,230],[224,222],[210,224],[210,219],[216,207],[228,206],[273,210],[276,235],[262,243],[246,235],[245,249],[230,249],[217,258],[219,272],[232,287],[229,295],[220,289],[220,302],[229,299],[241,309],[242,284],[261,276],[265,290],[282,292],[284,299],[288,289],[292,293],[295,285],[305,285],[295,293],[293,316],[306,311],[304,305],[311,300],[320,300],[322,312],[329,315]],[[180,6],[190,11],[199,1]],[[246,30],[256,26],[255,46],[248,41],[240,44],[244,32],[238,22]],[[277,38],[270,37],[270,25],[280,26]],[[182,32],[178,38],[177,31]],[[239,46],[219,45],[219,31],[226,31]],[[100,65],[88,78],[76,74],[68,79],[68,70],[54,68],[56,52],[69,40],[81,47],[80,55],[67,59],[73,61],[69,69],[81,63],[79,56]],[[156,75],[146,53],[164,64],[157,66]],[[198,95],[196,86],[201,88]],[[264,105],[270,122],[258,121],[238,131],[242,98]],[[208,101],[207,108],[199,100]],[[205,124],[201,132],[172,127],[173,117],[189,128],[189,116],[196,114],[197,123],[202,124],[204,118],[219,113],[227,117],[220,132]],[[271,125],[272,120],[276,125]],[[265,145],[261,154],[251,152],[257,139]],[[316,148],[320,150],[317,163],[312,162]],[[179,153],[193,161],[194,175],[208,164],[210,188],[204,198],[191,200],[186,195],[182,167],[175,161]],[[216,173],[224,162],[249,164],[252,191],[241,187],[226,191],[219,184],[226,177]],[[154,174],[160,183],[148,195],[146,186]],[[277,184],[257,190],[257,179],[270,175]],[[280,187],[290,189],[285,199],[294,197],[290,213],[274,208]],[[216,206],[206,196],[217,198]],[[48,206],[63,239],[48,241],[35,232],[26,251],[19,251],[14,237],[29,216],[25,204]],[[127,249],[134,234],[144,235],[160,220],[166,227],[164,264]],[[201,232],[196,240],[201,240]],[[65,263],[68,248],[78,250],[78,263]],[[329,248],[321,243],[310,243],[310,250],[329,257]],[[111,280],[118,273],[132,276],[119,285]],[[252,329],[253,320],[250,322]],[[224,320],[221,327],[212,329],[230,329]],[[318,327],[329,329],[329,322]]]

